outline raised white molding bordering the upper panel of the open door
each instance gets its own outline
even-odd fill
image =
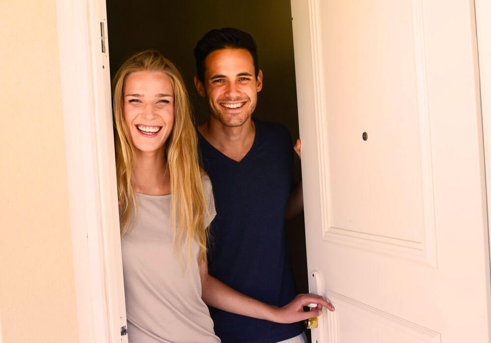
[[[419,157],[421,179],[421,202],[423,204],[423,222],[420,239],[407,240],[396,237],[360,232],[353,228],[336,227],[332,223],[333,197],[330,187],[333,182],[330,173],[328,120],[326,104],[325,73],[323,70],[322,27],[319,18],[320,3],[308,1],[308,19],[310,49],[312,58],[312,80],[314,97],[314,115],[316,123],[316,146],[319,161],[319,184],[321,185],[320,205],[323,209],[322,232],[326,241],[349,245],[355,248],[368,249],[376,253],[403,257],[437,267],[436,225],[433,190],[432,152],[430,138],[430,120],[428,109],[428,85],[426,72],[425,38],[421,0],[410,1],[413,23],[413,49],[415,59],[415,83],[417,102],[417,121],[419,129]]]

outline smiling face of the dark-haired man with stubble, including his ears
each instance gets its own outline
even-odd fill
[[[202,83],[196,77],[198,93],[206,97],[210,120],[225,126],[241,126],[256,108],[257,92],[263,86],[263,75],[254,73],[254,60],[246,49],[219,49],[205,59]]]

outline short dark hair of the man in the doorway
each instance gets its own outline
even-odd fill
[[[196,74],[201,82],[205,79],[205,59],[215,50],[232,48],[246,49],[254,60],[254,72],[259,73],[259,63],[257,61],[257,48],[254,38],[247,32],[236,28],[224,27],[208,31],[194,48],[194,58],[196,59]]]

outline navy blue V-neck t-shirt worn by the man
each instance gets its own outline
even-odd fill
[[[198,132],[203,169],[213,185],[217,216],[211,223],[208,270],[233,289],[284,306],[296,295],[285,237],[285,206],[291,190],[293,149],[288,129],[253,119],[255,138],[236,162]],[[215,333],[227,342],[270,343],[302,332],[210,308]]]

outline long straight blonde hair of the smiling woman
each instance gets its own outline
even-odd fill
[[[172,192],[170,224],[175,228],[174,250],[184,266],[181,253],[184,241],[189,266],[192,242],[196,241],[201,248],[200,262],[206,262],[207,229],[204,222],[209,213],[201,184],[196,131],[191,119],[189,96],[177,68],[156,50],[141,51],[129,57],[112,80],[121,237],[131,229],[131,214],[134,211],[136,216],[137,211],[135,190],[131,183],[132,169],[136,162],[135,149],[125,125],[123,89],[126,77],[140,71],[165,73],[172,83],[174,127],[165,143],[165,155]]]

